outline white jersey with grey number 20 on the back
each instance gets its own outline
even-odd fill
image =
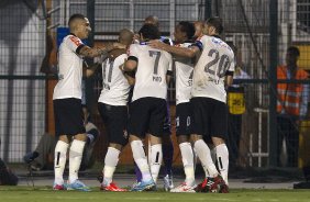
[[[224,79],[234,71],[234,54],[221,38],[203,35],[197,43],[202,53],[193,69],[192,97],[207,97],[226,102]]]

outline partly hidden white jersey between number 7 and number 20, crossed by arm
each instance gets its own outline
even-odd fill
[[[177,47],[189,47],[191,43],[175,45]],[[186,57],[174,57],[176,67],[176,103],[189,102],[192,86],[193,59]]]

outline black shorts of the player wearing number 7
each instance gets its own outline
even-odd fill
[[[141,98],[130,103],[129,132],[144,138],[146,133],[162,137],[167,114],[166,100]]]

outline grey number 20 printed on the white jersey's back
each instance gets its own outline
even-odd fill
[[[208,56],[212,57],[213,59],[204,66],[204,71],[212,76],[223,78],[231,64],[229,56],[220,56],[220,53],[217,49],[210,49]]]

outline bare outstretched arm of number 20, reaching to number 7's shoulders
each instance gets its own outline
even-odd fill
[[[181,57],[193,58],[195,56],[197,56],[200,53],[200,48],[196,45],[190,46],[190,47],[176,47],[176,46],[167,45],[156,40],[150,41],[147,45],[150,45],[151,47],[157,48],[157,49],[166,50],[168,53],[171,53],[171,54],[175,54]]]

